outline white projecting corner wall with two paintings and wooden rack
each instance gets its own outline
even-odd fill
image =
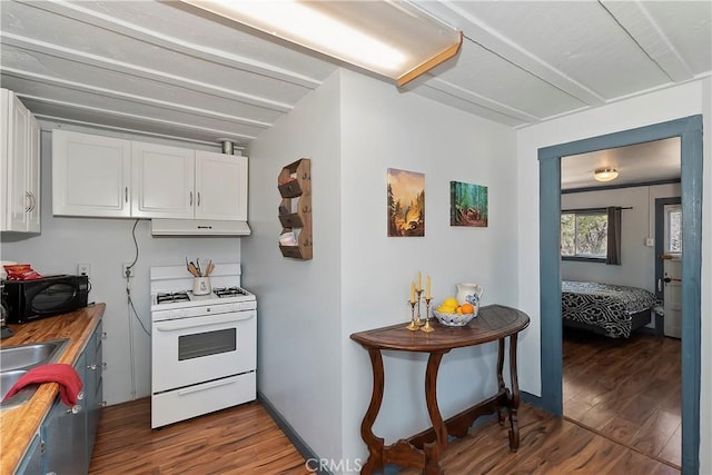
[[[372,369],[349,335],[405,323],[417,270],[432,276],[436,299],[477,281],[485,304],[517,300],[514,132],[342,70],[258,137],[249,155],[250,184],[264,184],[250,188],[254,235],[243,245],[244,263],[259,263],[245,280],[259,297],[258,387],[319,456],[353,467],[367,455],[359,426]],[[313,170],[315,247],[306,263],[277,248],[277,175],[299,157],[312,158]],[[425,174],[425,237],[387,237],[387,168]],[[488,228],[449,226],[451,180],[490,187]],[[374,431],[392,443],[429,426],[425,357],[385,359]],[[444,415],[494,393],[495,362],[495,345],[445,357]]]

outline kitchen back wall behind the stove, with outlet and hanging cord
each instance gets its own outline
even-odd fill
[[[105,133],[87,128],[72,128],[88,133]],[[106,135],[106,133],[105,133]],[[132,137],[121,135],[131,139]],[[134,137],[147,141],[145,137]],[[170,144],[161,141],[162,144]],[[91,264],[89,301],[106,303],[103,329],[103,397],[118,404],[150,395],[150,338],[139,323],[132,323],[135,340],[136,394],[132,394],[129,344],[129,310],[126,280],[121,278],[121,263],[131,263],[136,255],[131,229],[134,219],[53,217],[51,202],[51,133],[42,132],[41,234],[33,237],[2,234],[3,260],[29,263],[40,274],[77,274],[78,263]],[[185,144],[172,144],[191,148]],[[136,228],[139,258],[131,279],[131,296],[146,328],[150,331],[150,266],[180,265],[185,258],[209,257],[216,261],[239,261],[240,238],[152,238],[150,221],[140,220]],[[243,273],[249,273],[243,266]]]

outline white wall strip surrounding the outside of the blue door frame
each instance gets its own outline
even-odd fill
[[[541,317],[538,243],[538,160],[542,147],[565,144],[636,127],[702,113],[704,116],[704,176],[702,216],[702,389],[700,473],[712,473],[712,149],[710,78],[573,113],[517,131],[520,308],[533,317],[522,340],[520,383],[541,395]]]

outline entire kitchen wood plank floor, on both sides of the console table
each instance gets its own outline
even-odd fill
[[[523,404],[521,447],[488,420],[454,441],[441,465],[452,475],[673,475],[680,472],[570,420]],[[90,474],[307,474],[304,458],[259,403],[150,429],[150,399],[103,410]],[[403,474],[417,474],[405,469]]]

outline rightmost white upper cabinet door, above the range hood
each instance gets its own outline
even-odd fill
[[[247,157],[196,151],[196,218],[247,220]]]

